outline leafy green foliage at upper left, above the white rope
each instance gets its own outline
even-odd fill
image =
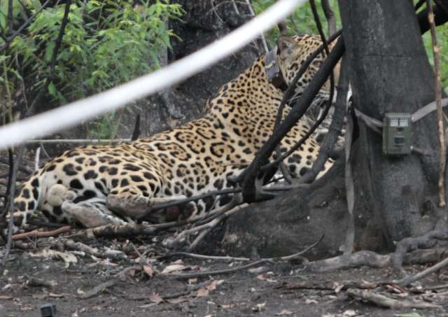
[[[8,1],[0,2],[0,33],[8,35]],[[13,1],[13,29],[41,9],[41,1]],[[36,92],[50,78],[48,95],[64,104],[101,92],[160,66],[160,55],[175,36],[165,22],[179,19],[183,10],[168,0],[73,0],[62,45],[57,52],[55,73],[50,70],[56,38],[61,29],[65,3],[41,10],[8,50],[0,55],[0,66],[10,74],[10,89],[20,88],[27,78]],[[0,38],[0,45],[3,44]],[[109,132],[111,118],[104,117],[98,132]],[[109,133],[109,135],[112,132]]]

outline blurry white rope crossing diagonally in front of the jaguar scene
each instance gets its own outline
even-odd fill
[[[227,36],[183,59],[179,59],[179,61],[169,64],[163,69],[141,76],[111,90],[95,94],[92,97],[0,127],[0,148],[10,147],[27,139],[71,127],[78,122],[113,111],[125,106],[130,101],[146,97],[170,85],[179,83],[181,80],[199,73],[218,62],[219,59],[242,48],[253,38],[293,12],[296,6],[306,1],[279,1]]]

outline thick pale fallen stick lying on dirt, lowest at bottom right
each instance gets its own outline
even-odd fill
[[[361,298],[377,304],[380,307],[391,308],[391,309],[402,309],[402,308],[416,308],[416,309],[428,309],[437,308],[441,309],[440,305],[431,304],[427,302],[410,302],[408,300],[395,300],[391,297],[386,297],[379,293],[373,292],[371,290],[355,290],[350,288],[347,290],[347,294],[350,297]]]

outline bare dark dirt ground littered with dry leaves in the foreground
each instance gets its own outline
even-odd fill
[[[396,276],[388,269],[307,273],[297,263],[275,261],[231,274],[180,279],[175,274],[229,269],[248,262],[181,255],[160,258],[167,253],[159,241],[86,241],[70,233],[70,239],[90,242],[99,254],[119,248],[125,252],[99,258],[73,251],[62,242],[67,234],[27,241],[36,247],[29,251],[13,248],[0,276],[0,316],[41,316],[44,303],[55,304],[57,316],[73,317],[448,316],[448,286],[444,285],[448,276],[444,272],[428,276],[410,290],[388,286],[381,293],[399,301],[439,304],[440,308],[386,309],[349,297],[346,286],[351,281],[390,281]],[[1,258],[4,250],[1,246]],[[42,250],[59,253],[43,254]],[[406,269],[413,273],[423,267]],[[435,285],[442,288],[430,290]]]

